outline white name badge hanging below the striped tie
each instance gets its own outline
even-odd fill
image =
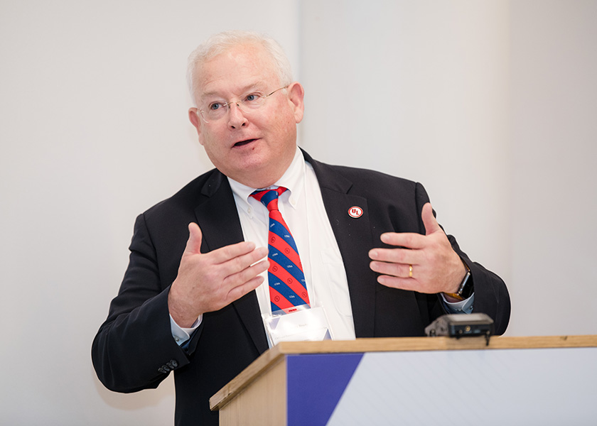
[[[286,315],[263,315],[270,347],[279,342],[330,340],[328,319],[323,307],[298,310]]]

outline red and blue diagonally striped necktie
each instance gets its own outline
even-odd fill
[[[309,306],[301,258],[298,257],[298,249],[290,229],[278,210],[278,197],[284,191],[286,188],[278,187],[276,190],[257,190],[251,194],[269,211],[267,276],[271,312],[274,314],[289,314],[297,311],[297,306]]]

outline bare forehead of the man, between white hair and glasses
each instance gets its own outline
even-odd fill
[[[274,61],[261,45],[237,45],[203,63],[197,73],[197,94],[200,98],[241,94],[252,87],[273,87],[278,81]]]

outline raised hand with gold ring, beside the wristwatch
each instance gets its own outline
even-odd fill
[[[434,217],[431,204],[421,212],[425,235],[387,232],[381,240],[399,249],[372,249],[370,268],[380,284],[419,293],[456,293],[466,275],[460,256]],[[412,269],[411,269],[412,268]],[[409,275],[412,275],[409,278]]]

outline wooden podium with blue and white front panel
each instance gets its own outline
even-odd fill
[[[597,336],[284,342],[210,398],[220,425],[595,425]]]

